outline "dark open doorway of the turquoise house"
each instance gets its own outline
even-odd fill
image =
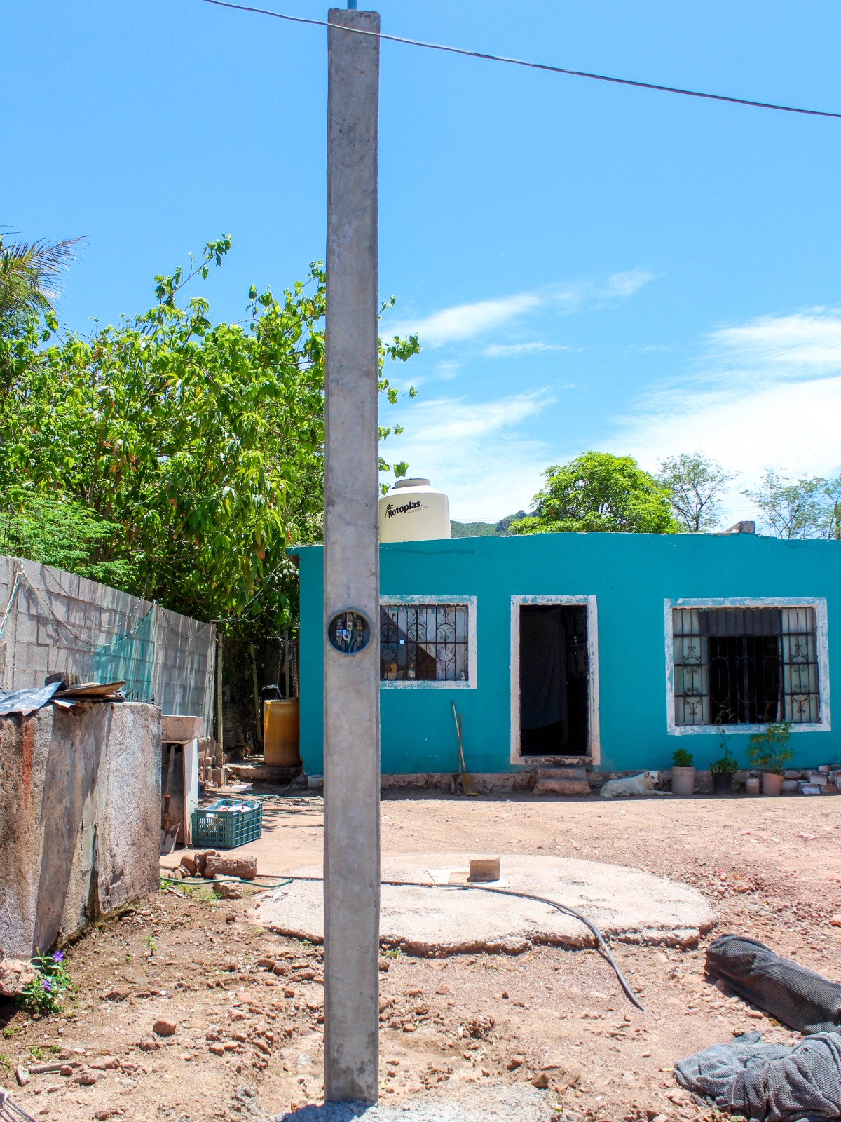
[[[586,638],[584,605],[520,606],[520,755],[588,754]]]

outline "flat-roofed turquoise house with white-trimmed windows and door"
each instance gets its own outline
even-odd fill
[[[301,754],[323,772],[322,548],[301,573]],[[841,761],[841,543],[536,534],[380,546],[381,771],[740,766],[792,724],[794,766]],[[834,629],[833,629],[834,627]],[[833,660],[833,654],[838,657]]]

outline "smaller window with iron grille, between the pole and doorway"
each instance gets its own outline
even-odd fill
[[[466,682],[466,604],[383,604],[380,607],[380,680]]]

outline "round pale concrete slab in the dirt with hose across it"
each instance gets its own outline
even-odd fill
[[[382,880],[427,886],[382,886],[380,942],[406,954],[520,954],[533,944],[592,946],[591,932],[572,916],[547,904],[478,891],[434,886],[429,871],[465,868],[470,856],[423,854],[383,861]],[[650,873],[566,857],[503,856],[510,889],[575,908],[606,938],[621,942],[691,946],[715,918],[704,898],[685,884]],[[292,875],[321,876],[320,865]],[[255,896],[251,919],[260,927],[321,942],[322,884],[296,881]]]

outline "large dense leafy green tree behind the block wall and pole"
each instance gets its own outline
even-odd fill
[[[286,546],[321,536],[324,274],[314,263],[280,297],[252,288],[243,322],[214,324],[179,295],[230,243],[156,277],[148,312],[91,338],[49,315],[40,334],[33,316],[0,330],[0,497],[72,499],[120,527],[103,560],[129,562],[128,591],[277,634],[296,596]],[[418,349],[395,339],[380,367]],[[396,399],[381,373],[380,388]]]

